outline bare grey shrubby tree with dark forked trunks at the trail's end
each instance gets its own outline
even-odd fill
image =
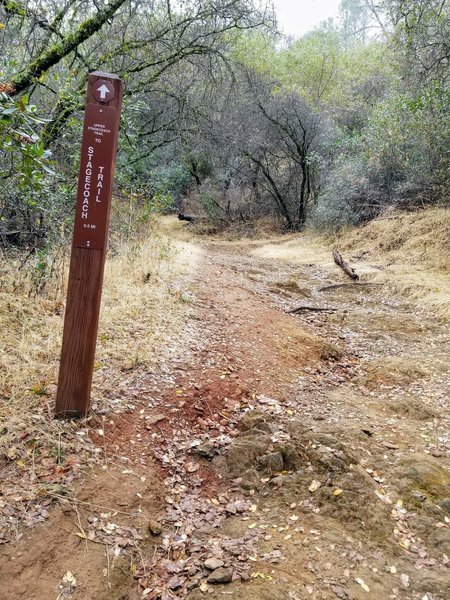
[[[226,221],[275,214],[286,229],[300,229],[319,188],[323,117],[251,69],[224,78],[205,100],[199,135],[187,139],[196,160],[208,157],[209,183],[204,175],[198,193],[208,212]]]

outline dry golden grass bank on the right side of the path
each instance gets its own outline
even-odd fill
[[[254,254],[320,265],[345,280],[333,263],[335,246],[365,281],[386,284],[393,294],[443,317],[450,315],[450,209],[392,211],[335,236],[306,231],[280,238]]]

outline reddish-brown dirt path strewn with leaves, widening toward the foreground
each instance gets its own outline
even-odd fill
[[[3,547],[2,600],[444,600],[448,329],[340,281],[205,247],[170,359],[92,424],[103,469]]]

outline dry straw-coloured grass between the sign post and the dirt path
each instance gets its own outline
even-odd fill
[[[107,261],[94,373],[97,406],[107,409],[115,388],[127,379],[124,373],[151,372],[170,353],[192,300],[186,275],[199,253],[167,232],[153,232],[145,243],[123,245]]]

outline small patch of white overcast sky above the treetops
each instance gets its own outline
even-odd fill
[[[340,0],[272,0],[280,29],[300,36],[321,21],[336,17]]]

